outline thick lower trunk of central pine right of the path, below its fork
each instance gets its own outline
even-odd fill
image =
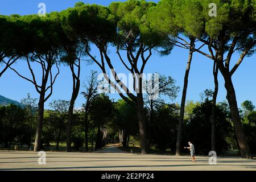
[[[137,94],[137,115],[139,120],[139,135],[141,137],[141,154],[146,154],[146,150],[147,150],[146,122],[145,122],[143,96],[141,93]]]

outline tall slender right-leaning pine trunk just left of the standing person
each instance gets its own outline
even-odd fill
[[[187,88],[188,88],[188,76],[189,76],[190,65],[193,57],[194,43],[195,43],[195,39],[191,39],[191,47],[189,48],[188,63],[185,71],[183,92],[182,92],[182,98],[181,98],[181,104],[180,104],[179,125],[177,128],[176,156],[180,156],[180,151],[181,151],[181,138],[182,138],[182,130],[183,130],[185,102],[186,102]]]

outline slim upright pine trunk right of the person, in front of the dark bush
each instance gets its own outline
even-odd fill
[[[218,67],[216,62],[214,62],[213,66],[213,76],[214,76],[214,92],[212,98],[212,115],[210,118],[211,123],[211,150],[216,151],[216,125],[215,125],[215,111],[216,111],[216,100],[218,95]]]

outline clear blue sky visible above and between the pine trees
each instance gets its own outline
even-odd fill
[[[76,0],[9,0],[0,2],[0,14],[10,15],[10,14],[36,14],[38,13],[38,4],[46,3],[47,13],[50,11],[61,11],[67,9],[68,7],[73,7]],[[87,0],[82,1],[84,3],[97,3],[100,5],[109,5],[110,0]],[[158,2],[158,1],[155,1]],[[110,49],[112,52],[112,59],[118,60],[115,55],[114,49]],[[96,50],[93,50],[96,53]],[[233,62],[238,59],[238,55],[233,57]],[[245,61],[242,63],[240,68],[233,76],[234,86],[236,88],[237,101],[240,106],[242,101],[251,100],[256,105],[256,56],[246,57]],[[187,63],[187,50],[180,48],[175,48],[171,55],[166,57],[159,57],[156,53],[151,57],[148,62],[145,72],[155,73],[159,72],[166,76],[172,76],[177,81],[176,84],[181,88],[183,86],[184,72]],[[122,65],[115,61],[117,66],[117,72],[124,72]],[[1,66],[1,65],[0,65]],[[212,61],[196,54],[193,57],[193,62],[191,65],[191,73],[189,75],[189,85],[187,100],[200,100],[200,93],[205,89],[213,89],[213,76],[212,76]],[[28,75],[27,64],[24,61],[18,61],[14,65],[20,73],[23,75]],[[36,69],[36,67],[35,67]],[[90,70],[96,70],[100,72],[96,64],[86,65],[82,64],[82,74],[81,81],[86,81],[86,77],[90,75]],[[226,91],[224,88],[224,81],[222,76],[219,75],[220,91],[218,94],[218,101],[225,100]],[[22,80],[22,78],[15,75],[12,71],[7,71],[0,78],[0,95],[11,98],[13,100],[20,101],[20,99],[27,96],[27,93],[31,93],[32,97],[38,98],[39,95],[35,91],[35,88],[30,82]],[[84,88],[80,89],[80,92],[84,91]],[[69,100],[72,92],[72,77],[68,67],[61,66],[61,73],[57,78],[56,84],[53,86],[53,94],[51,98],[46,102],[46,108],[48,108],[49,102],[56,99]],[[111,98],[119,99],[117,94],[110,94]],[[175,102],[180,102],[181,92],[177,97]],[[76,107],[80,107],[84,102],[83,97],[80,95],[77,98]]]

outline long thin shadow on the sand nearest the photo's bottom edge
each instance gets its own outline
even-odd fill
[[[94,169],[94,168],[133,168],[133,167],[185,167],[185,166],[209,166],[206,164],[185,164],[185,165],[158,165],[158,166],[86,166],[86,167],[46,167],[46,168],[3,168],[0,171],[13,171],[13,170],[54,170],[54,169]],[[250,165],[214,165],[214,166],[245,166],[256,168]]]

